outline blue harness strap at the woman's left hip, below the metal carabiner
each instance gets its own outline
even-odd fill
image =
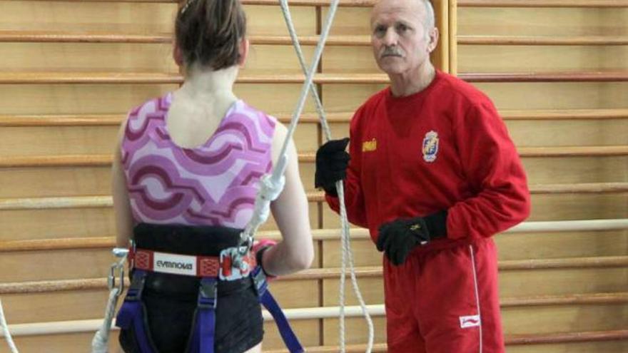
[[[131,286],[124,298],[124,302],[118,316],[116,316],[116,326],[121,329],[130,329],[133,325],[136,342],[141,353],[156,353],[148,339],[148,332],[144,325],[144,307],[142,304],[142,290],[146,281],[146,271],[135,270],[131,279]]]

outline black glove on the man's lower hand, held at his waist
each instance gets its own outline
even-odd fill
[[[442,210],[425,217],[397,219],[380,225],[377,246],[398,266],[417,245],[446,236],[447,211]]]

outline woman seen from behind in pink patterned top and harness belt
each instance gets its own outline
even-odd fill
[[[313,260],[291,143],[285,187],[271,203],[283,240],[265,242],[244,267],[229,265],[260,177],[272,170],[287,134],[233,93],[249,49],[245,32],[238,0],[188,1],[176,16],[173,53],[185,82],[133,108],[121,126],[113,205],[118,246],[133,243],[131,287],[116,320],[124,352],[261,352],[250,269],[287,275]],[[216,282],[206,281],[212,271]],[[201,314],[207,307],[211,320]]]

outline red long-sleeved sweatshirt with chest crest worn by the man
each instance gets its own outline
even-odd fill
[[[437,71],[407,97],[376,93],[355,112],[350,140],[347,212],[373,241],[383,222],[438,210],[448,210],[450,240],[490,237],[530,213],[525,171],[495,106],[454,76]],[[338,212],[338,198],[326,199]]]

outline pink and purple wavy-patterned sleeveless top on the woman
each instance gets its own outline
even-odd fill
[[[206,143],[181,148],[166,128],[171,102],[168,93],[128,115],[121,150],[134,220],[245,227],[272,169],[275,118],[236,101]]]

